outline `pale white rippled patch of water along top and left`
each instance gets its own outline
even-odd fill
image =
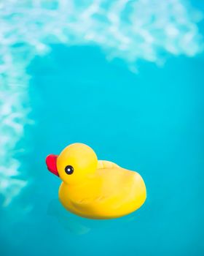
[[[0,2],[0,194],[4,206],[27,181],[15,159],[29,123],[26,67],[50,43],[99,45],[107,59],[162,63],[163,54],[195,56],[203,50],[199,11],[182,0],[7,0]]]

